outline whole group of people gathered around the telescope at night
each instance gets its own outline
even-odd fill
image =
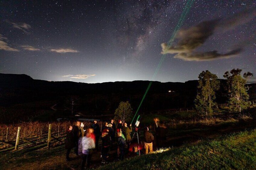
[[[161,125],[160,125],[161,126]],[[155,130],[157,139],[162,139],[158,134],[160,131],[158,121],[155,121]],[[132,124],[127,126],[126,122],[118,120],[117,125],[114,120],[105,122],[104,126],[100,128],[98,121],[94,120],[91,128],[84,130],[84,125],[81,121],[76,121],[72,126],[69,125],[66,131],[66,161],[70,161],[69,153],[74,148],[75,154],[82,157],[81,169],[90,166],[90,160],[93,150],[99,151],[99,139],[102,140],[101,158],[102,163],[107,162],[108,151],[113,150],[113,143],[117,141],[117,156],[118,159],[123,160],[124,155],[128,153],[130,148]],[[154,136],[149,132],[149,127],[144,128],[144,147],[146,154],[153,152]],[[157,140],[158,141],[158,140]],[[159,142],[157,142],[158,145]]]

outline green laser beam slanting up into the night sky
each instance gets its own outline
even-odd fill
[[[189,1],[187,1],[186,5],[185,5],[185,7],[184,7],[184,10],[183,10],[183,12],[182,12],[182,14],[181,14],[181,17],[180,17],[180,19],[179,19],[179,21],[178,21],[178,24],[176,25],[176,27],[175,27],[175,29],[174,29],[174,31],[173,31],[173,33],[172,33],[171,39],[169,40],[168,45],[167,45],[167,48],[165,49],[165,51],[168,50],[168,48],[171,47],[171,44],[173,43],[173,41],[174,41],[174,39],[175,39],[175,37],[176,37],[176,34],[177,34],[179,28],[181,27],[181,25],[183,24],[183,22],[184,22],[184,20],[185,20],[185,18],[186,18],[186,16],[187,16],[187,13],[190,11],[190,8],[191,8],[191,6],[192,6],[193,3],[194,3],[194,0],[189,0]],[[164,51],[164,52],[165,52],[165,51]],[[161,59],[160,59],[160,61],[159,61],[159,63],[158,63],[158,66],[157,66],[157,68],[156,68],[156,70],[155,70],[155,73],[154,73],[154,75],[152,76],[152,79],[151,79],[151,81],[150,81],[150,83],[149,83],[149,86],[148,86],[148,88],[147,88],[145,94],[144,94],[143,97],[142,97],[142,100],[140,101],[139,107],[138,107],[138,109],[136,110],[136,113],[135,113],[135,115],[134,115],[134,117],[133,117],[133,120],[134,120],[135,116],[137,115],[137,113],[139,112],[139,109],[140,109],[140,107],[141,107],[141,105],[142,105],[144,99],[146,98],[146,95],[147,95],[147,93],[148,93],[148,91],[149,91],[149,89],[150,89],[150,87],[151,87],[151,85],[152,85],[153,79],[155,79],[155,76],[157,75],[157,73],[158,73],[158,71],[159,71],[159,69],[160,69],[160,67],[161,67],[161,65],[162,65],[162,63],[163,63],[163,61],[164,61],[164,59],[165,59],[165,53],[162,55],[162,57],[161,57]],[[133,123],[133,120],[132,120],[131,124]]]

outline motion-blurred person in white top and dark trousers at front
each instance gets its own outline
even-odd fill
[[[86,168],[90,167],[90,160],[92,156],[92,149],[95,148],[94,140],[91,138],[91,133],[86,133],[86,136],[82,137],[82,165],[81,169],[84,169],[85,162]]]

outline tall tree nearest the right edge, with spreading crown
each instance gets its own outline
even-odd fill
[[[253,76],[252,73],[244,73],[243,77],[241,76],[242,69],[232,69],[230,72],[226,71],[223,77],[227,79],[228,85],[228,95],[229,95],[229,104],[231,106],[235,105],[235,111],[241,111],[247,108],[250,105],[249,95],[247,91],[249,87],[245,87],[248,78]]]

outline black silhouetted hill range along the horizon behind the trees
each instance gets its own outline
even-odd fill
[[[80,110],[85,112],[113,112],[120,101],[130,101],[136,108],[150,81],[133,82],[49,82],[35,80],[25,74],[0,74],[0,106],[41,100],[56,100],[59,103],[69,96],[80,98]],[[225,80],[221,80],[224,84]],[[142,104],[142,111],[193,107],[197,92],[197,80],[181,82],[153,82]],[[249,90],[255,99],[256,84]],[[171,92],[168,92],[171,91]],[[225,102],[223,85],[217,93],[217,100]]]

